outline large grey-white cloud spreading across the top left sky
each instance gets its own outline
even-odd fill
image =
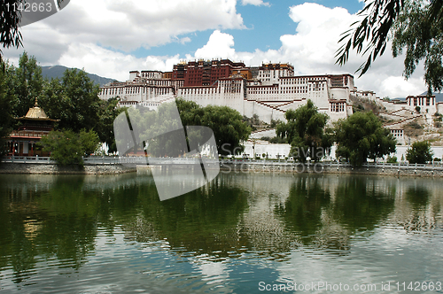
[[[72,43],[97,43],[130,52],[166,43],[189,43],[180,37],[207,29],[242,29],[237,0],[76,0],[35,24],[23,27],[25,50],[46,60],[57,60]],[[49,49],[45,51],[44,48]],[[16,50],[5,50],[18,58]]]

